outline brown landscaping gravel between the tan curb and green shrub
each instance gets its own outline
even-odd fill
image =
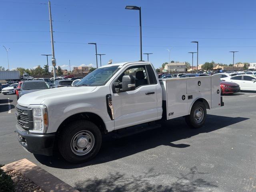
[[[44,192],[39,186],[34,184],[31,180],[24,177],[16,170],[7,172],[12,177],[15,185],[15,192]]]

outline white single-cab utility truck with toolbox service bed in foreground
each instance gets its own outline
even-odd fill
[[[102,134],[181,116],[199,128],[206,109],[223,105],[219,76],[159,80],[150,62],[124,62],[102,66],[76,86],[22,96],[15,130],[25,150],[50,156],[56,147],[80,163],[98,153]]]

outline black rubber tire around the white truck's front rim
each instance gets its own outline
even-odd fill
[[[72,141],[78,141],[78,136],[75,137],[77,134],[81,134],[81,132],[87,132],[90,134],[93,134],[94,136],[94,145],[91,147],[91,150],[87,154],[76,154],[76,150],[78,148],[74,144],[72,144]],[[85,134],[86,135],[86,134]],[[74,138],[75,137],[75,138]],[[81,136],[80,136],[81,138]],[[92,137],[91,137],[92,138]],[[91,141],[93,141],[91,139]],[[90,142],[90,139],[88,139],[88,142]],[[70,162],[70,163],[82,163],[86,162],[98,153],[100,150],[102,142],[102,135],[99,130],[99,128],[92,122],[87,121],[87,120],[78,120],[76,122],[72,122],[68,124],[63,130],[60,132],[60,137],[58,139],[58,148],[60,151],[60,154],[63,156],[63,158]],[[76,142],[77,144],[78,142]],[[78,145],[78,144],[77,144]],[[73,147],[72,147],[73,146]],[[86,145],[87,147],[87,145]],[[85,146],[84,148],[79,148],[80,150],[87,149]],[[74,152],[73,152],[74,151]]]

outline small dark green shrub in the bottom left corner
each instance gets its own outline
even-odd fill
[[[4,165],[0,164],[0,167]],[[14,183],[12,178],[0,168],[0,192],[13,192]]]

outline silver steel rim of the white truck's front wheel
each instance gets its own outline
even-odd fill
[[[95,139],[92,132],[83,130],[76,133],[70,143],[71,150],[74,154],[82,156],[88,154],[94,147]]]

